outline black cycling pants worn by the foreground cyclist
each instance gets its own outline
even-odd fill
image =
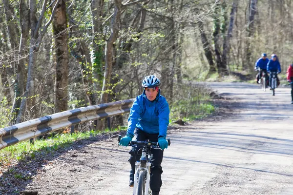
[[[136,141],[145,141],[146,139],[149,139],[149,141],[152,142],[158,142],[158,136],[159,134],[148,134],[138,128],[135,128],[134,130],[134,137],[132,140]],[[153,192],[160,192],[161,186],[162,186],[162,179],[161,174],[163,173],[161,163],[163,160],[163,153],[164,150],[160,148],[151,149],[151,154],[153,155],[152,162],[151,162],[151,168],[150,168],[150,189]],[[129,154],[131,155],[129,158],[129,162],[131,165],[131,171],[130,171],[130,182],[134,181],[134,173],[135,173],[135,162],[139,161],[141,155],[142,155],[142,147],[133,147]]]

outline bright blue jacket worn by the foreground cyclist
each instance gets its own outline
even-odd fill
[[[159,137],[167,136],[167,126],[169,124],[169,104],[163,96],[159,94],[153,101],[146,98],[146,92],[136,97],[128,117],[127,134],[132,134],[135,127],[148,134],[159,134]]]

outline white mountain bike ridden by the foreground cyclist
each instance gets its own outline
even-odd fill
[[[118,137],[118,144],[120,143],[121,136]],[[167,139],[168,145],[171,144],[170,139]],[[159,148],[158,142],[151,141],[130,141],[129,146],[138,147],[143,146],[142,156],[139,161],[135,163],[134,185],[133,195],[151,195],[149,187],[150,182],[150,167],[152,154],[150,150],[152,148]]]

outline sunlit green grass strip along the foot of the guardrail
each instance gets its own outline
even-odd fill
[[[34,144],[29,140],[20,142],[18,144],[6,147],[0,150],[0,165],[9,164],[13,160],[23,160],[27,156],[32,159],[37,155],[37,153],[43,153],[42,155],[47,155],[53,153],[60,148],[68,147],[73,142],[81,139],[86,139],[89,137],[95,137],[101,133],[116,132],[122,130],[121,128],[101,131],[87,131],[87,132],[76,132],[73,134],[57,134],[55,136],[48,137],[45,139],[37,139]]]

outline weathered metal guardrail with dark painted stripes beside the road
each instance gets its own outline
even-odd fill
[[[0,129],[0,149],[71,125],[130,111],[134,99],[81,107]]]

